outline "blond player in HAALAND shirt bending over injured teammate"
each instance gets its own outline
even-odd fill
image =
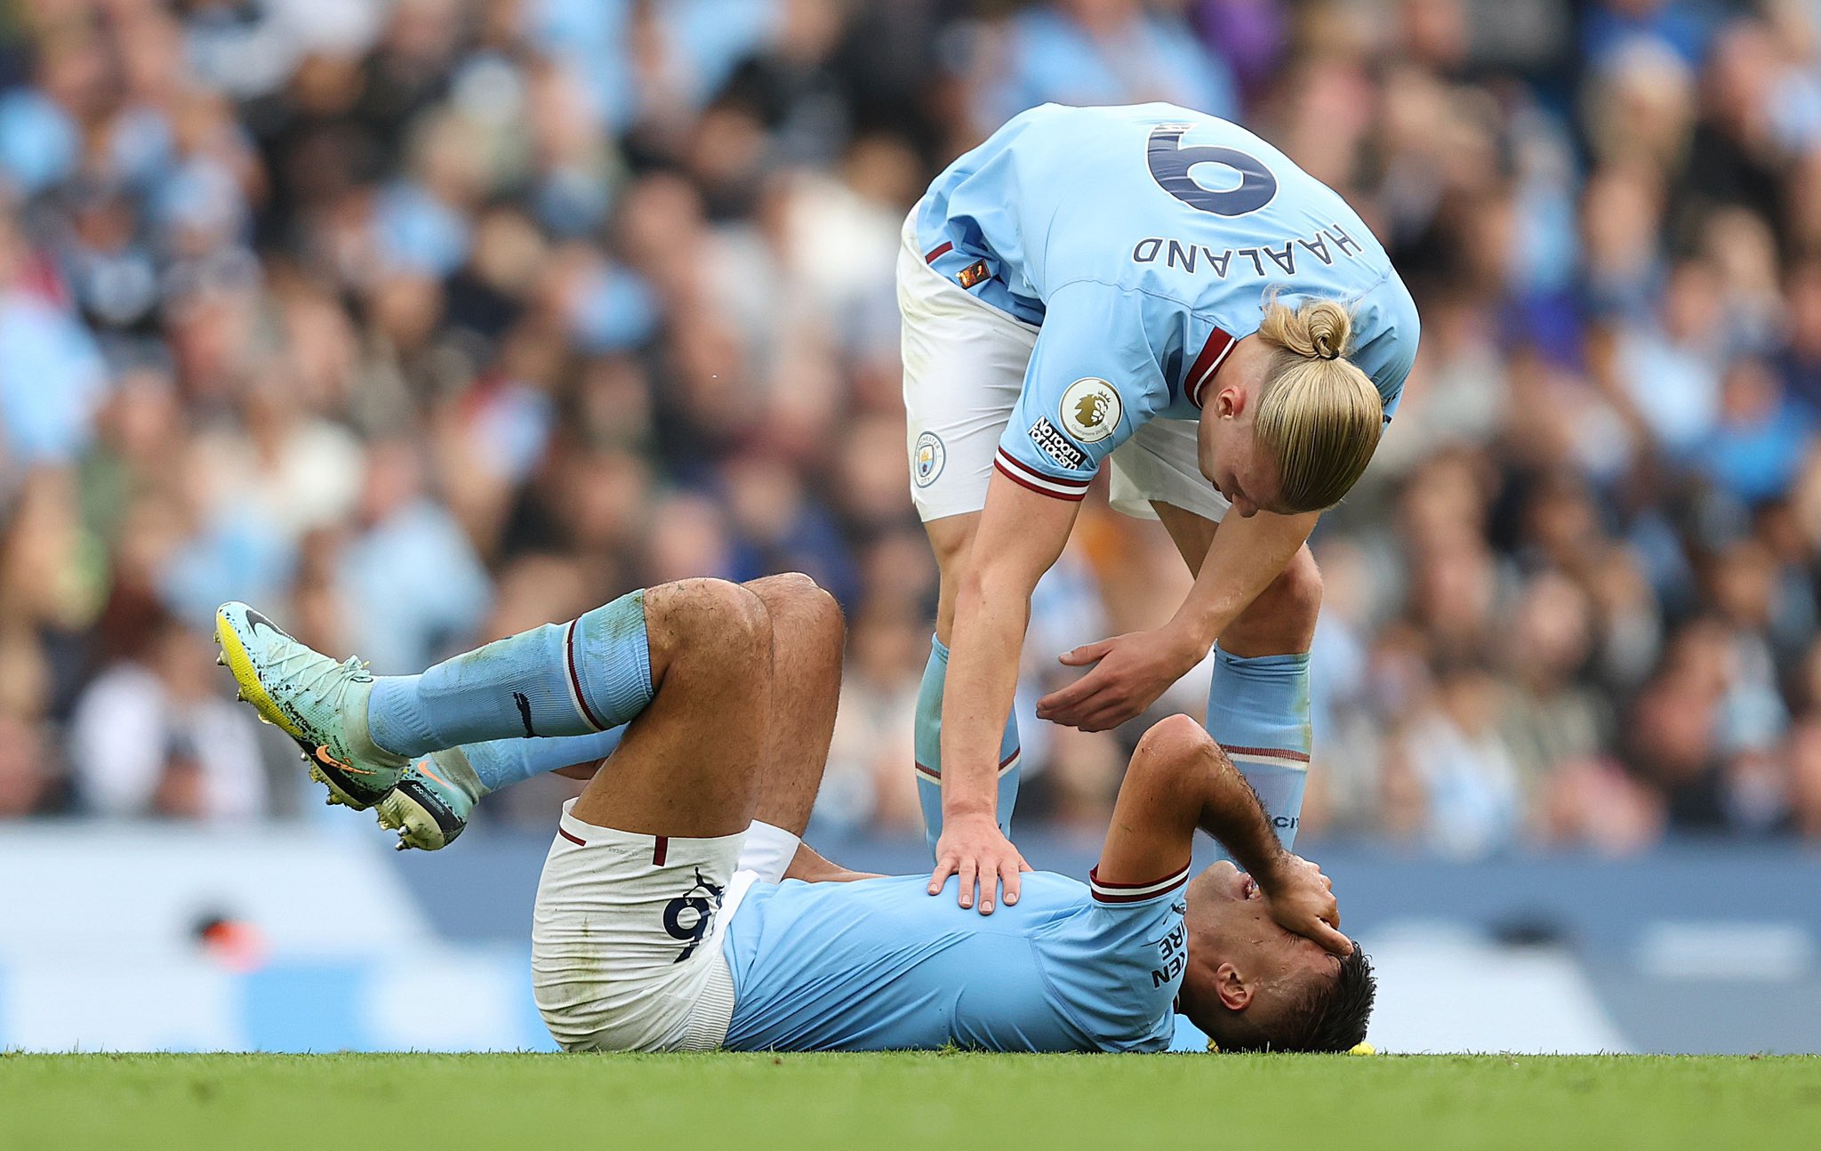
[[[898,306],[910,490],[941,566],[916,725],[931,892],[960,874],[963,907],[1018,898],[1031,592],[1107,459],[1113,506],[1162,519],[1195,586],[1162,628],[1067,652],[1094,667],[1038,716],[1116,727],[1218,639],[1207,730],[1289,849],[1322,590],[1306,541],[1417,353],[1417,308],[1371,231],[1236,124],[1043,106],[910,211]]]

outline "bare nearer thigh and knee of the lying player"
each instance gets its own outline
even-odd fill
[[[772,707],[765,605],[719,579],[645,594],[656,692],[575,801],[597,827],[727,836],[752,821]]]

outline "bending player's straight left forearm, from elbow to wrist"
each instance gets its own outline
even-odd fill
[[[1005,574],[961,581],[941,696],[941,810],[994,816],[998,750],[1018,690],[1031,588]]]

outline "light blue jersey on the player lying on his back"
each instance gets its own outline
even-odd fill
[[[958,881],[759,883],[727,927],[732,1051],[1165,1051],[1187,869],[1144,889],[1029,872],[991,916]]]

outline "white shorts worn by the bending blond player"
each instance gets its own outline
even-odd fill
[[[918,251],[916,217],[912,209],[905,219],[898,250],[898,311],[910,501],[929,523],[985,506],[992,455],[1018,406],[1038,328],[932,270]],[[1156,519],[1151,501],[1158,501],[1218,523],[1231,506],[1202,477],[1195,421],[1153,419],[1114,448],[1111,463],[1111,503],[1127,515]]]

